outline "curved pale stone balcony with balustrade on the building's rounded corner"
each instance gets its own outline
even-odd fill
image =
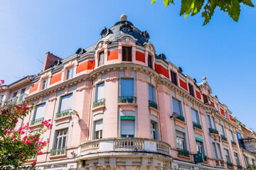
[[[118,138],[103,138],[100,140],[91,140],[79,146],[80,156],[100,154],[104,152],[112,155],[115,154],[131,154],[132,152],[153,152],[159,155],[165,154],[171,156],[170,145],[159,140],[151,140],[136,137],[118,137]]]

